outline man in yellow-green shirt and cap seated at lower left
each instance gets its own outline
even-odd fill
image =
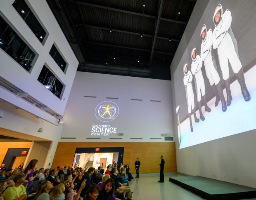
[[[4,193],[2,194],[2,198],[4,200],[25,200],[28,196],[26,193],[26,188],[22,185],[26,179],[26,174],[20,173],[14,176],[14,183],[13,187],[7,188]]]

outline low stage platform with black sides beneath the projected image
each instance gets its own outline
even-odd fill
[[[201,176],[176,176],[169,181],[207,200],[256,198],[256,188],[218,181]]]

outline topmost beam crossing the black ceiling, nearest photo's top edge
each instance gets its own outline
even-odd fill
[[[139,12],[131,12],[131,11],[128,11],[128,10],[111,8],[111,7],[107,7],[107,6],[96,5],[96,4],[91,4],[91,3],[81,2],[81,1],[69,0],[69,2],[77,3],[77,4],[80,4],[80,5],[91,6],[91,7],[97,7],[97,8],[101,8],[101,9],[109,9],[109,10],[116,11],[116,12],[123,12],[123,13],[127,13],[127,14],[143,16],[143,14],[139,13]],[[153,16],[153,15],[144,14],[144,16],[148,17],[148,18],[156,19],[156,16]],[[167,19],[167,18],[161,18],[161,20],[163,20],[163,21],[171,21],[173,23],[178,23],[178,24],[187,24],[186,22],[183,22],[183,21],[176,21],[176,20]]]

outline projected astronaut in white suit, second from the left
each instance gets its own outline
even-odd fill
[[[191,58],[192,58],[192,64],[191,64],[191,72],[195,76],[195,85],[197,88],[197,101],[198,101],[198,109],[200,113],[200,118],[202,121],[204,121],[204,115],[202,113],[201,109],[201,99],[204,103],[205,111],[208,113],[211,112],[211,108],[207,106],[206,98],[205,98],[205,85],[204,85],[204,77],[203,73],[201,71],[201,68],[203,66],[203,62],[201,60],[201,57],[197,55],[196,48],[192,49],[191,51]]]

